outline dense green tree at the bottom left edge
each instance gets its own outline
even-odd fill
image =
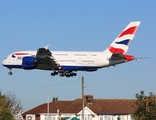
[[[0,91],[0,120],[13,120],[13,116],[6,101],[6,96]]]

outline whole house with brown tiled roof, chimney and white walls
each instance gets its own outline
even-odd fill
[[[85,96],[85,120],[131,120],[134,111],[132,99],[93,99]],[[59,113],[58,113],[59,112]],[[47,103],[41,104],[22,114],[23,120],[48,120]],[[54,101],[49,103],[49,120],[71,119],[82,120],[82,99],[74,101]]]

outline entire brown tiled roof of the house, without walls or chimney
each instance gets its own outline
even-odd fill
[[[131,114],[134,111],[132,105],[136,100],[132,99],[93,99],[92,101],[84,101],[87,106],[96,114]],[[88,104],[89,103],[89,104]],[[79,113],[82,110],[82,99],[74,101],[54,101],[49,104],[49,113]],[[47,103],[39,105],[25,114],[41,114],[47,113]]]

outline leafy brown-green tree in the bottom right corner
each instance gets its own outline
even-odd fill
[[[136,98],[132,118],[134,120],[156,120],[156,96],[152,92],[149,96],[145,96],[144,91],[141,91],[140,95],[136,94]]]

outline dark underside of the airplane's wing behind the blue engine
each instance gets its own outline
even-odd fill
[[[36,54],[37,69],[55,70],[59,68],[59,64],[56,62],[52,53],[49,51],[48,46],[39,48]]]

